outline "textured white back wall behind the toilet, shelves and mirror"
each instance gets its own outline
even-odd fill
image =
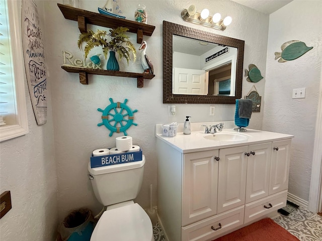
[[[61,3],[61,2],[58,2]],[[97,12],[105,1],[80,1],[79,7],[88,11]],[[53,122],[55,136],[55,156],[58,176],[58,205],[60,220],[70,209],[87,206],[95,213],[102,206],[96,200],[92,186],[88,180],[87,166],[91,152],[97,148],[114,147],[115,138],[123,134],[114,134],[109,137],[109,131],[104,127],[97,127],[101,122],[101,112],[97,108],[105,108],[110,104],[109,98],[114,101],[128,99],[135,113],[135,123],[127,133],[133,137],[133,143],[141,146],[146,157],[144,179],[141,192],[136,201],[143,207],[149,205],[149,185],[153,184],[153,205],[156,205],[156,155],[154,125],[173,121],[183,123],[186,115],[191,115],[192,122],[231,121],[234,116],[234,105],[216,104],[215,116],[209,116],[210,104],[177,104],[177,116],[168,117],[168,104],[163,104],[162,83],[162,25],[163,20],[203,29],[245,40],[244,66],[256,64],[265,76],[266,50],[268,37],[269,16],[238,5],[230,1],[198,1],[197,10],[208,7],[210,12],[230,15],[233,23],[224,32],[189,24],[181,19],[181,11],[188,8],[191,2],[185,1],[120,1],[122,10],[128,20],[134,20],[134,10],[137,4],[146,6],[148,24],[154,25],[155,30],[151,37],[144,36],[147,41],[147,55],[154,65],[155,77],[144,80],[144,87],[136,87],[136,79],[112,76],[89,75],[89,85],[79,83],[78,74],[67,73],[61,69],[63,63],[62,51],[68,50],[82,59],[83,53],[77,48],[79,30],[77,22],[63,18],[57,7],[57,1],[46,2],[46,35],[48,36],[49,74],[52,81]],[[88,26],[91,29],[103,29],[97,26]],[[131,40],[136,44],[136,34],[129,33]],[[122,64],[123,63],[123,64]],[[140,61],[126,66],[121,63],[121,70],[141,72]],[[252,88],[252,84],[244,77],[243,96]],[[256,88],[260,95],[264,95],[265,79],[260,81]],[[262,127],[262,115],[252,115],[250,127]]]

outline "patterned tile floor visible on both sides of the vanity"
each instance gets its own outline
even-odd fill
[[[303,207],[286,206],[289,215],[278,214],[273,220],[295,235],[300,241],[322,241],[322,216]],[[153,226],[154,241],[166,241],[159,223]],[[282,239],[281,239],[282,241]]]

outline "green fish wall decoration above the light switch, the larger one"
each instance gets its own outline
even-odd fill
[[[278,60],[279,63],[283,63],[286,61],[294,60],[301,57],[307,51],[311,50],[313,47],[307,47],[304,42],[299,40],[291,40],[282,44],[281,49],[282,52],[275,52],[275,60]]]

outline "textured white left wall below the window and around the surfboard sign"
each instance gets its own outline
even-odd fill
[[[40,19],[43,21],[43,3],[39,1],[36,3]],[[17,8],[21,9],[19,1]],[[20,28],[17,31],[21,31]],[[48,57],[47,55],[47,60]],[[50,92],[53,81],[48,79],[47,123],[41,126],[36,124],[27,81],[25,85],[29,134],[1,143],[1,193],[11,191],[12,209],[1,218],[0,239],[49,241],[55,239],[58,224],[57,175]]]

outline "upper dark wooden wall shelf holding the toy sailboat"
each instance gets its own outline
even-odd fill
[[[57,6],[60,9],[63,16],[65,17],[65,19],[78,22],[78,29],[82,33],[87,32],[87,24],[94,24],[106,28],[117,28],[119,26],[122,26],[128,28],[129,32],[136,33],[136,42],[138,44],[141,44],[143,40],[143,35],[151,36],[155,29],[155,26],[152,25],[109,17],[107,15],[94,13],[83,9],[73,8],[63,4],[57,4]]]

